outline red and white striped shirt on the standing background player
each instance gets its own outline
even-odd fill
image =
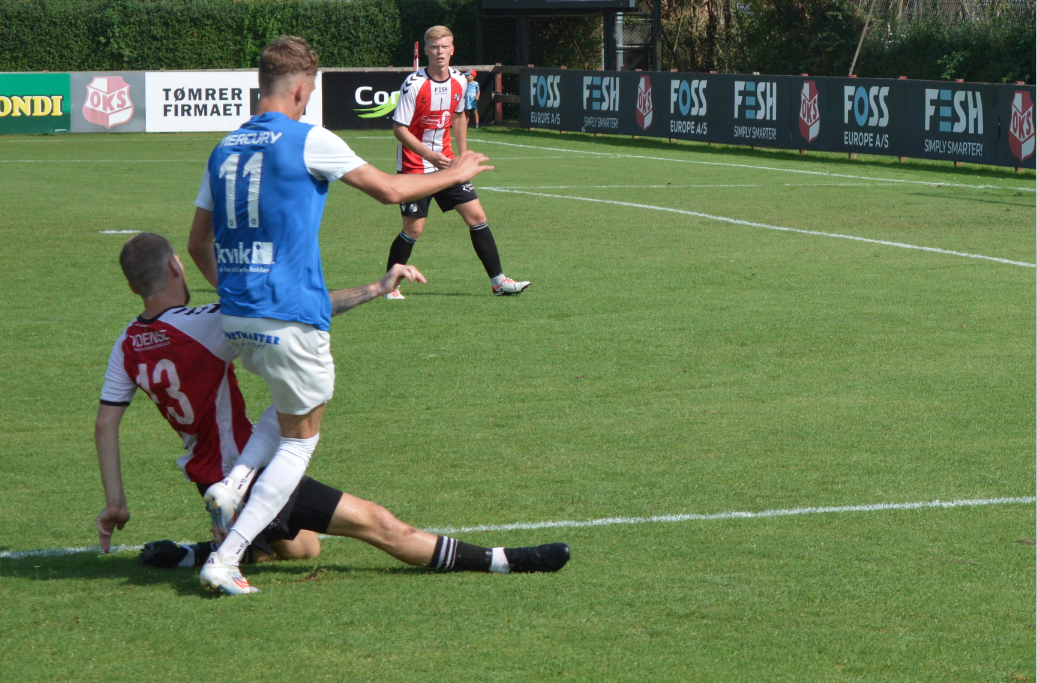
[[[446,81],[433,81],[424,68],[411,74],[399,89],[392,120],[407,129],[429,149],[453,159],[450,124],[454,114],[465,112],[468,81],[455,68]],[[396,170],[400,173],[432,173],[437,169],[400,143],[396,148]]]

